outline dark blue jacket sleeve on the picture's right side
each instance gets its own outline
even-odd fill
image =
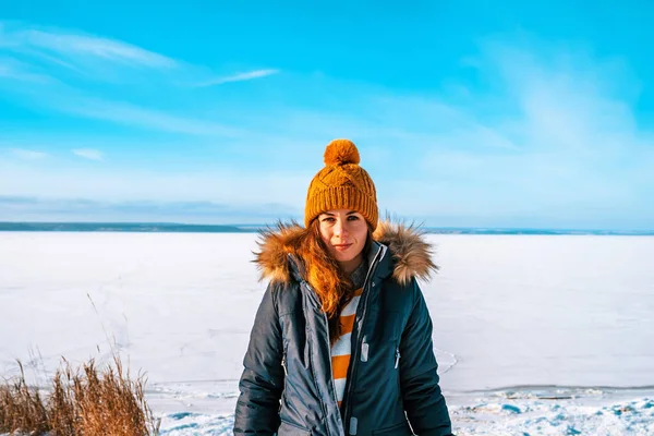
[[[400,380],[407,417],[419,436],[451,436],[451,422],[438,386],[432,318],[413,280],[413,308],[400,341]]]

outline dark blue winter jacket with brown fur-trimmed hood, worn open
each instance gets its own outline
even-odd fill
[[[234,434],[451,435],[432,319],[416,282],[433,267],[423,235],[389,223],[375,232],[339,410],[327,317],[291,249],[302,230],[265,234],[258,262],[270,284],[243,361]]]

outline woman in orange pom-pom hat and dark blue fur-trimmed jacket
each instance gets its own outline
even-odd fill
[[[234,434],[451,435],[416,278],[436,270],[413,228],[378,225],[353,143],[332,141],[304,225],[263,233],[268,290],[240,380]]]

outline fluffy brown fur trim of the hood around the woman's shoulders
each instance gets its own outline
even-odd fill
[[[306,229],[296,222],[279,222],[276,228],[262,230],[259,252],[254,263],[261,270],[261,279],[289,283],[292,266],[289,255],[301,257],[298,250]],[[438,266],[432,261],[433,249],[425,240],[425,232],[417,227],[390,220],[379,221],[373,239],[388,247],[392,256],[392,277],[407,284],[413,278],[428,280]]]

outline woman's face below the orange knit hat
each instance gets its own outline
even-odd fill
[[[363,258],[367,223],[363,215],[349,209],[327,210],[318,215],[320,238],[346,272],[352,272]]]

